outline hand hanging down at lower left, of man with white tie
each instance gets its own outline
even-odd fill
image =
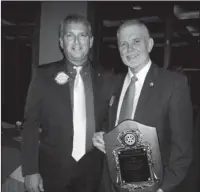
[[[26,175],[24,179],[25,189],[28,192],[44,191],[43,181],[39,173]]]

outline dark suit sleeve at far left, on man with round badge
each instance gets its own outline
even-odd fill
[[[24,124],[22,131],[22,172],[23,175],[38,173],[38,145],[40,107],[42,101],[41,75],[37,69],[29,86],[25,105]]]

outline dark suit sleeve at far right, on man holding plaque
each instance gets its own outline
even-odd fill
[[[161,186],[164,192],[170,192],[184,179],[192,161],[192,113],[187,78],[181,76],[174,86],[169,104],[172,144],[168,166],[164,170],[164,180]]]

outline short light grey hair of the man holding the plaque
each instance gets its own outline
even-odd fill
[[[149,30],[148,30],[147,26],[146,26],[144,23],[142,23],[140,20],[136,20],[136,19],[130,19],[130,20],[124,21],[124,22],[119,26],[119,28],[117,29],[117,37],[118,37],[118,35],[119,35],[119,32],[120,32],[123,28],[125,28],[125,27],[127,27],[127,26],[131,26],[131,25],[140,27],[140,28],[143,30],[144,34],[145,34],[148,38],[150,37],[150,33],[149,33]]]

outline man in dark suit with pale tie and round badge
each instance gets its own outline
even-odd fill
[[[99,185],[103,153],[92,137],[108,106],[111,74],[90,64],[92,44],[90,23],[67,16],[60,28],[65,58],[38,67],[32,79],[22,134],[29,192],[95,192]]]

